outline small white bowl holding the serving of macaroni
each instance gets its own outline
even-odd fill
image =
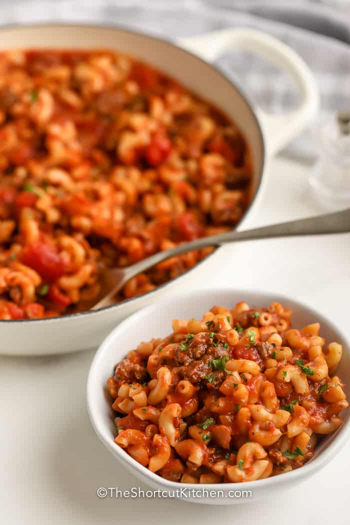
[[[330,439],[320,454],[316,454],[314,459],[306,463],[303,467],[279,476],[248,483],[213,485],[189,485],[168,481],[137,463],[137,461],[114,443],[115,426],[113,420],[115,413],[111,408],[111,400],[107,392],[106,381],[108,377],[113,375],[115,363],[123,359],[126,353],[135,348],[141,341],[147,341],[152,337],[165,337],[165,335],[172,331],[171,322],[173,319],[190,319],[192,317],[200,319],[203,313],[208,311],[214,304],[233,308],[236,302],[240,300],[246,301],[251,307],[263,307],[272,301],[279,301],[293,310],[292,325],[294,327],[300,328],[305,324],[320,322],[321,333],[322,336],[326,338],[326,341],[337,341],[343,345],[343,358],[337,374],[342,378],[344,383],[347,385],[350,384],[349,341],[345,338],[341,330],[335,327],[334,324],[328,321],[321,313],[287,297],[271,295],[266,292],[244,290],[198,290],[158,302],[153,306],[134,313],[111,332],[94,356],[87,385],[90,419],[102,443],[119,461],[120,465],[118,468],[126,468],[153,489],[172,491],[186,487],[188,493],[179,495],[179,498],[186,499],[186,501],[209,503],[212,505],[229,505],[259,499],[263,496],[268,497],[268,491],[271,491],[269,493],[273,493],[273,497],[275,498],[279,491],[296,485],[305,478],[311,477],[326,465],[345,444],[350,433],[350,411],[347,410],[342,414],[343,417],[345,415],[345,422],[340,431]],[[344,390],[349,398],[349,387]],[[194,496],[189,493],[190,489],[193,488],[196,490],[206,489],[207,491],[221,490],[221,492],[218,493],[216,497],[208,497],[205,492],[203,495],[198,495],[198,497],[197,495]],[[252,495],[249,499],[232,497],[229,493],[231,490],[250,490]]]

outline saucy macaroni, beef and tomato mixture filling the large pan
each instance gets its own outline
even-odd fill
[[[0,319],[87,310],[108,268],[235,227],[249,205],[236,125],[151,66],[44,49],[0,53],[0,71]],[[115,301],[210,251],[163,261]]]

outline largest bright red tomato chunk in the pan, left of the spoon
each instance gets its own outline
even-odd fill
[[[22,252],[22,262],[34,268],[46,282],[54,282],[65,274],[65,261],[48,244],[31,244]]]

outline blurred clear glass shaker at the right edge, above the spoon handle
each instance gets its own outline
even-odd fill
[[[320,130],[320,157],[309,182],[328,209],[350,206],[350,111],[342,111]]]

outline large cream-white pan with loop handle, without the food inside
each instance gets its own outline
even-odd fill
[[[269,159],[304,128],[319,106],[315,81],[303,60],[280,41],[252,29],[224,29],[180,40],[177,45],[106,26],[39,25],[0,29],[0,49],[18,47],[120,50],[153,64],[223,110],[240,128],[253,156],[254,198],[239,228],[258,208]],[[253,107],[235,83],[209,63],[230,48],[257,53],[289,72],[301,91],[300,106],[278,116]],[[208,258],[201,265],[207,261]],[[97,348],[122,319],[154,303],[175,284],[177,290],[182,289],[182,276],[143,296],[98,311],[54,319],[0,321],[0,353],[44,355]]]

